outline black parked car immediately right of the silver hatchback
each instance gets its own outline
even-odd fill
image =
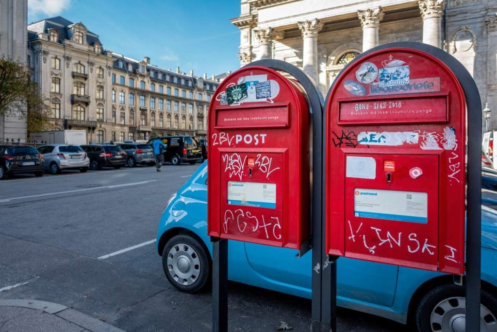
[[[81,145],[81,148],[90,158],[90,169],[97,170],[102,167],[121,168],[126,165],[126,152],[113,144]]]

